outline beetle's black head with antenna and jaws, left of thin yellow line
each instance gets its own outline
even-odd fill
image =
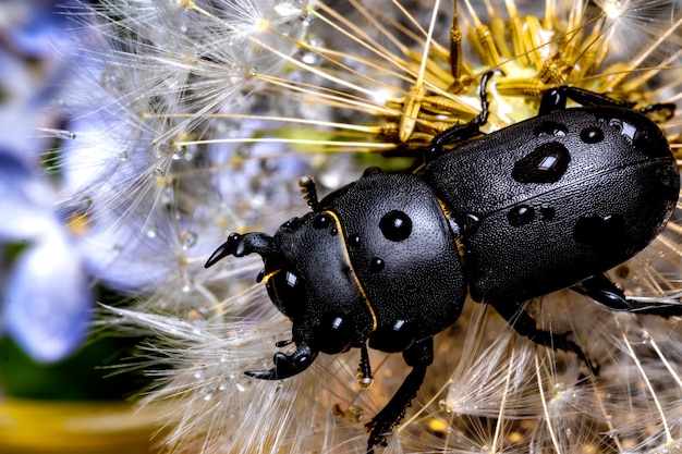
[[[373,317],[348,261],[344,240],[333,213],[308,212],[280,226],[275,236],[233,233],[208,259],[206,267],[227,256],[258,254],[275,306],[293,322],[296,352],[278,353],[275,369],[247,372],[261,379],[282,379],[307,368],[319,352],[336,354],[362,345]]]

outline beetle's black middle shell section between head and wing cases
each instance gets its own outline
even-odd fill
[[[419,341],[459,318],[466,283],[458,244],[423,179],[365,175],[322,199],[318,210],[333,211],[342,225],[350,260],[377,320],[370,347],[403,351],[406,334],[391,335],[395,323],[406,323],[403,333]]]

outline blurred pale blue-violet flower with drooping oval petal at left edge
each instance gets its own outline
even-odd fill
[[[0,330],[32,358],[63,359],[86,338],[94,305],[90,278],[45,180],[0,149],[0,244],[24,243],[7,275]]]

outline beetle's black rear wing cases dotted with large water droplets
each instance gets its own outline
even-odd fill
[[[474,299],[522,302],[631,258],[663,229],[680,176],[660,128],[624,108],[557,111],[427,162],[463,230]]]

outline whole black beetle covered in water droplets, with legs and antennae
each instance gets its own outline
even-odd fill
[[[680,174],[661,130],[646,111],[604,95],[563,86],[548,90],[538,115],[483,134],[482,112],[425,149],[424,175],[363,176],[321,200],[301,180],[312,211],[275,236],[232,233],[208,259],[256,253],[258,277],[293,322],[291,355],[270,370],[279,380],[305,370],[319,352],[361,349],[358,383],[372,383],[367,346],[402,352],[412,370],[367,424],[367,452],[386,437],[416,396],[433,361],[433,336],[452,326],[468,293],[492,305],[532,341],[575,353],[568,333],[540,330],[523,303],[570,287],[611,310],[669,316],[679,305],[626,298],[604,274],[658,235],[680,192]],[[567,109],[567,99],[582,105]],[[446,147],[454,145],[454,149]]]

